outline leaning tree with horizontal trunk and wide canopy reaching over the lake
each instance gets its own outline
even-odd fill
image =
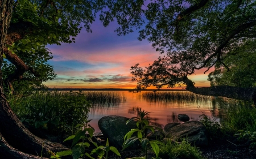
[[[224,96],[256,102],[255,88],[216,86],[196,88],[188,79],[195,70],[217,63],[228,69],[225,58],[238,58],[239,48],[256,37],[256,2],[242,0],[174,0],[119,2],[109,4],[105,23],[122,17],[119,35],[141,28],[139,40],[147,38],[156,51],[165,53],[152,65],[131,67],[137,90],[150,85],[162,88],[187,85],[188,91],[209,96]],[[133,8],[136,11],[131,12]],[[143,19],[146,17],[146,20]],[[207,72],[205,71],[205,72]],[[231,71],[230,71],[231,72]]]

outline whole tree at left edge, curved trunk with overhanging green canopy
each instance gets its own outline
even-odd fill
[[[96,12],[102,10],[103,5],[100,2],[0,1],[0,66],[3,63],[3,57],[15,66],[13,72],[6,75],[6,84],[11,87],[13,81],[24,79],[24,77],[38,79],[41,75],[40,78],[46,80],[55,76],[52,74],[51,66],[44,63],[51,58],[45,46],[74,42],[74,37],[81,30],[81,23],[90,32],[90,23],[93,22]],[[36,63],[33,64],[34,62]],[[41,68],[50,71],[43,72],[39,70]],[[45,76],[42,77],[42,75]],[[36,137],[19,121],[5,98],[2,67],[0,70],[0,121],[2,157],[39,158],[36,156],[41,152],[46,154],[48,151],[57,152],[67,149],[61,144]]]

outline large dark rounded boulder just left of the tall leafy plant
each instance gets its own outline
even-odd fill
[[[132,128],[137,128],[136,122],[134,121],[126,124],[126,121],[128,120],[129,118],[126,117],[110,115],[102,117],[98,121],[98,127],[105,138],[109,138],[109,144],[111,146],[114,146],[117,149],[122,149],[123,139],[126,133],[131,131]],[[138,144],[134,144],[134,148],[135,147],[138,147]]]

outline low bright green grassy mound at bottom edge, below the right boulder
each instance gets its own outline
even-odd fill
[[[181,143],[174,143],[172,141],[167,141],[164,145],[159,145],[160,152],[159,157],[166,159],[201,159],[204,158],[201,156],[199,148],[191,146],[188,141],[183,139]]]

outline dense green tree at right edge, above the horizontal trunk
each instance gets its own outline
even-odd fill
[[[230,85],[233,87],[256,86],[256,45],[254,42],[237,48],[237,55],[232,52],[226,55],[224,63],[216,63],[215,70],[210,72],[208,80],[211,86]]]

